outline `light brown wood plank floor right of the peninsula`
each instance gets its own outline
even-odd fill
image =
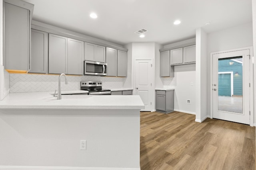
[[[181,112],[140,113],[141,170],[254,170],[255,127]]]

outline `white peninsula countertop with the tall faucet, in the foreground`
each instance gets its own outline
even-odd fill
[[[57,97],[50,95],[53,93],[10,93],[0,101],[0,109],[144,109],[145,107],[140,96],[136,95],[62,95],[62,99],[57,100]]]

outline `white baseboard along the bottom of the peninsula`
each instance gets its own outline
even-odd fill
[[[140,170],[140,168],[94,168],[61,166],[0,166],[0,170]]]

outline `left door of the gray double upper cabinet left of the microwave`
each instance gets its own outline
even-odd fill
[[[49,73],[68,73],[68,38],[49,34]]]

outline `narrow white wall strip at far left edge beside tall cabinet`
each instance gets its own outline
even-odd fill
[[[3,66],[3,0],[0,0],[0,100],[9,93],[10,76]]]

